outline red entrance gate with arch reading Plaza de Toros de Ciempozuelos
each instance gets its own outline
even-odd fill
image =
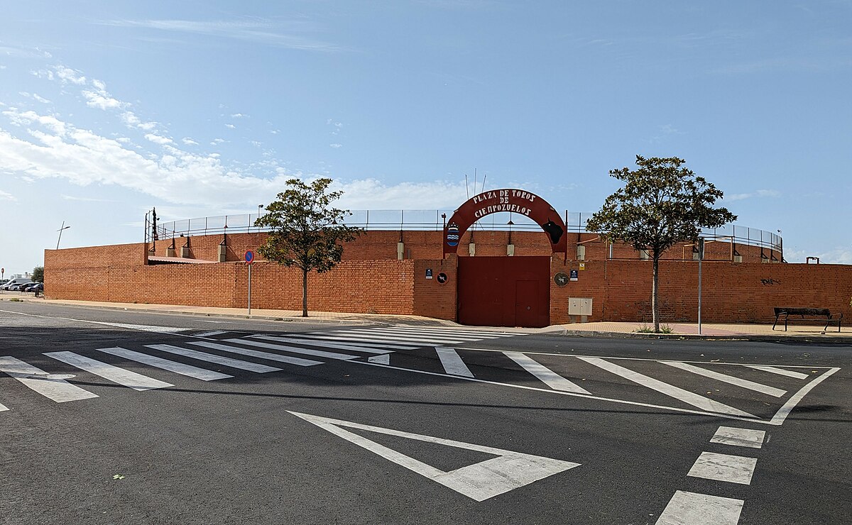
[[[444,227],[444,254],[454,254],[477,220],[490,214],[525,215],[541,226],[554,253],[565,253],[565,222],[529,191],[484,191],[463,203]],[[550,257],[458,258],[458,322],[479,326],[544,327],[550,324]]]

